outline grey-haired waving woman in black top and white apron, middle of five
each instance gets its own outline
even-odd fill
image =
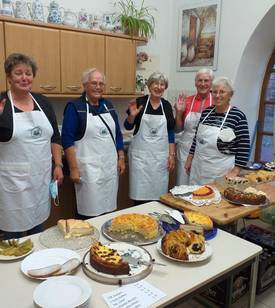
[[[147,86],[150,95],[140,98],[139,106],[130,103],[124,123],[126,129],[135,127],[128,149],[129,197],[135,204],[158,200],[166,193],[169,171],[175,166],[174,118],[170,103],[162,99],[168,81],[164,75],[153,73]]]

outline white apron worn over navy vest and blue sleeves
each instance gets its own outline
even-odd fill
[[[89,113],[81,140],[75,142],[81,183],[75,184],[77,211],[85,216],[97,216],[117,207],[117,151],[113,139],[99,116]],[[108,111],[107,107],[105,106]],[[115,122],[110,114],[100,116],[116,135]]]

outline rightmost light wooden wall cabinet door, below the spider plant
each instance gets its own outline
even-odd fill
[[[106,94],[135,93],[135,41],[117,37],[106,37],[105,53]]]

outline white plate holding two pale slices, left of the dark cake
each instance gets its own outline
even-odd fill
[[[27,256],[21,263],[21,271],[28,277],[28,271],[32,269],[43,268],[46,266],[60,264],[62,265],[66,261],[77,258],[81,261],[80,255],[73,250],[65,248],[49,248],[34,252],[33,254]],[[46,278],[34,278],[34,279],[48,279]]]

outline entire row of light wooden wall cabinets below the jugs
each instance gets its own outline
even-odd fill
[[[30,55],[38,73],[32,90],[49,96],[78,96],[81,73],[96,67],[106,75],[106,97],[136,95],[136,46],[146,40],[125,34],[35,23],[0,16],[0,85],[6,89],[4,59],[11,53]]]

